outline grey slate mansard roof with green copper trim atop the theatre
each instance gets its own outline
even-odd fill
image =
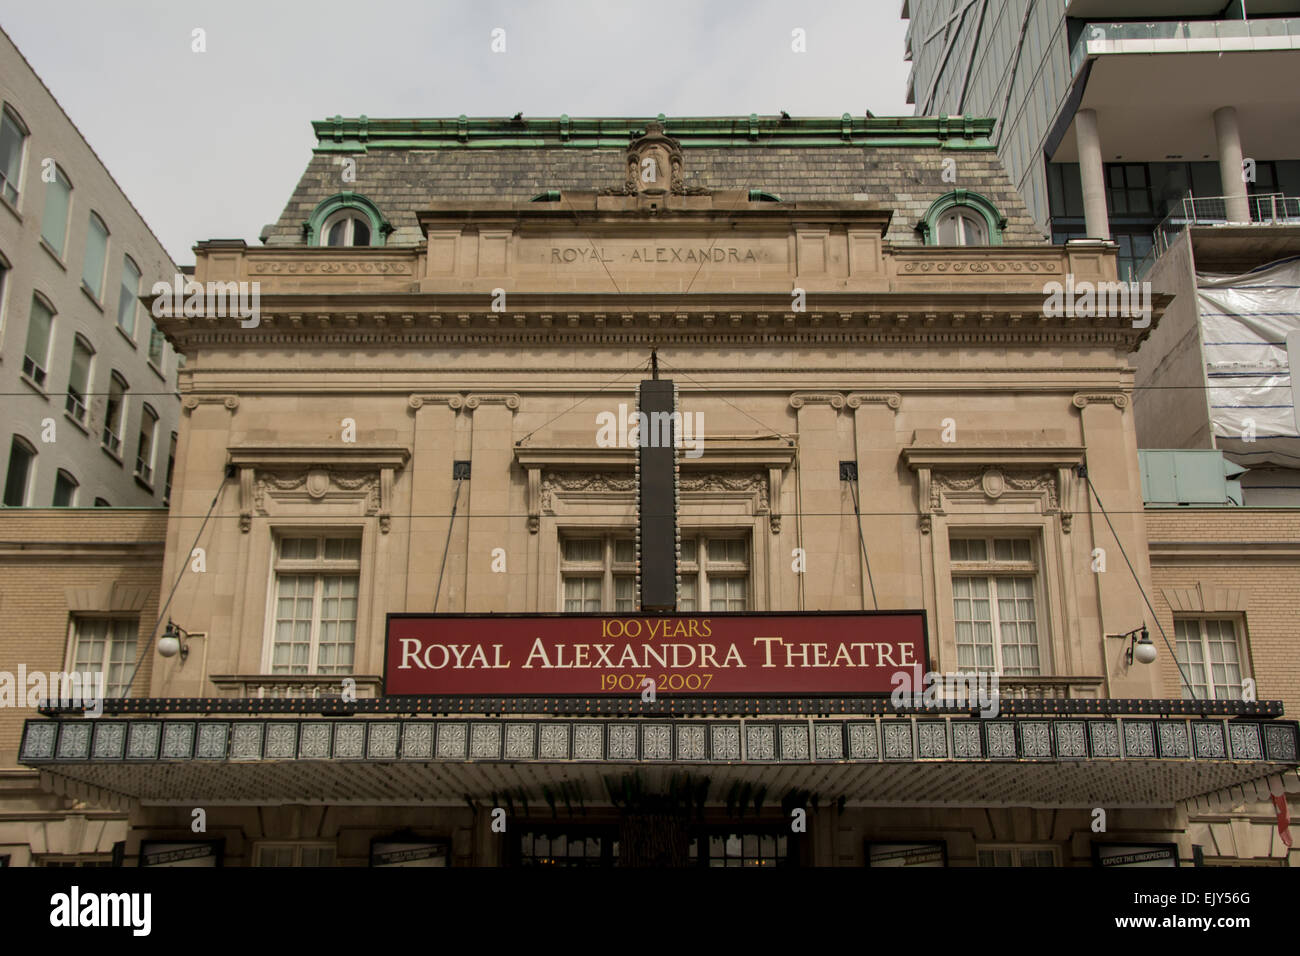
[[[528,202],[546,190],[602,190],[623,182],[628,143],[650,118],[372,120],[313,122],[313,150],[268,245],[302,245],[303,222],[344,190],[373,202],[394,232],[417,245],[416,213],[430,200]],[[1008,245],[1043,243],[989,143],[992,120],[971,117],[666,120],[684,151],[688,187],[763,190],[784,202],[853,202],[893,209],[887,238],[922,245],[915,226],[953,190],[978,193],[1006,217]],[[342,157],[356,161],[342,178]],[[945,160],[948,165],[945,179]],[[956,177],[956,181],[954,181]]]

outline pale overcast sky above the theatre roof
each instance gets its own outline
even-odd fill
[[[183,265],[202,239],[256,243],[311,159],[311,121],[335,114],[664,113],[670,133],[673,116],[910,116],[901,8],[0,0],[0,26]]]

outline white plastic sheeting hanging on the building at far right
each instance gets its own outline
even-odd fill
[[[1300,333],[1300,258],[1244,276],[1196,276],[1210,424],[1242,464],[1300,467],[1287,336]]]

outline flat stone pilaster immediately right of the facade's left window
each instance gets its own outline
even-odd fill
[[[393,532],[400,535],[406,529],[408,535],[406,594],[393,594],[390,600],[402,601],[402,605],[390,607],[419,613],[433,610],[433,592],[438,587],[442,551],[448,546],[447,515],[451,514],[451,496],[455,486],[451,480],[451,463],[456,457],[455,423],[456,412],[464,405],[464,399],[455,394],[413,394],[407,399],[407,405],[415,418],[415,434],[411,441],[411,467],[402,477],[407,485],[403,499],[411,520],[402,522],[394,515]],[[467,498],[462,488],[462,506]],[[399,541],[393,544],[400,548]],[[400,554],[400,550],[398,553]],[[441,610],[448,610],[446,600],[447,581],[443,580]]]

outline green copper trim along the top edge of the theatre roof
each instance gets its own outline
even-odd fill
[[[442,120],[374,120],[365,116],[317,120],[316,152],[369,150],[623,150],[658,120],[684,148],[736,147],[910,147],[992,150],[996,121],[971,116],[836,117],[508,117],[459,116]]]

